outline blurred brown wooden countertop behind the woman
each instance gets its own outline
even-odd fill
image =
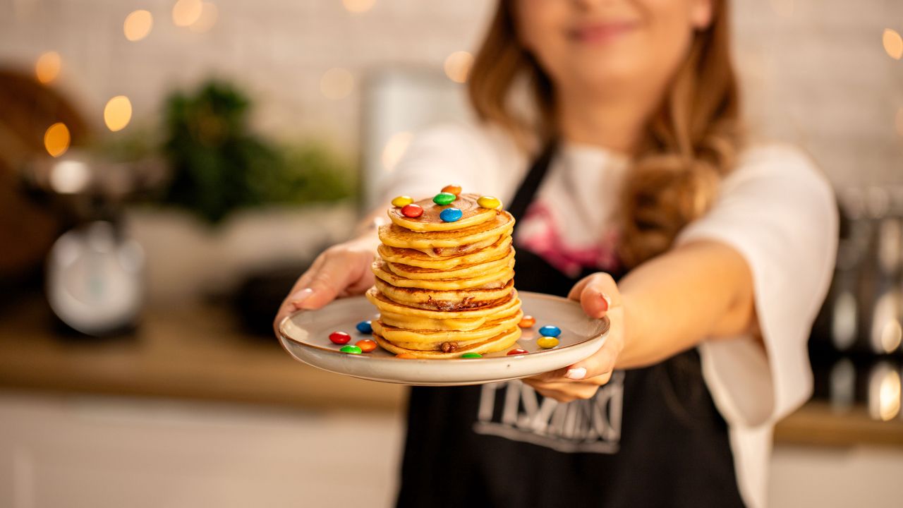
[[[360,381],[296,362],[275,338],[241,332],[228,309],[152,306],[134,336],[54,334],[37,296],[0,314],[0,388],[227,400],[301,408],[398,411],[403,386]],[[810,402],[775,429],[781,443],[903,447],[903,420]]]

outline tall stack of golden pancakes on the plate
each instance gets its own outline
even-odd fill
[[[401,207],[379,228],[376,284],[367,297],[379,309],[373,336],[386,350],[418,358],[457,358],[502,351],[517,342],[523,317],[514,288],[514,217],[480,207],[476,194],[448,205],[424,199],[420,217]],[[446,222],[443,209],[461,210]]]

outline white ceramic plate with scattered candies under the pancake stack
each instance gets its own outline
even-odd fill
[[[330,342],[329,335],[340,331],[351,335],[351,342],[372,338],[358,332],[360,321],[377,319],[377,309],[367,298],[343,298],[314,311],[299,311],[279,325],[279,339],[285,351],[295,359],[330,372],[338,372],[372,381],[427,386],[482,384],[525,378],[561,369],[599,350],[609,332],[609,320],[592,319],[583,314],[580,304],[560,296],[518,291],[525,315],[533,315],[536,324],[525,328],[517,343],[509,348],[528,353],[507,356],[509,350],[489,353],[482,358],[405,359],[377,347],[372,353],[349,354]],[[536,345],[539,327],[561,328],[560,343],[554,349]]]

